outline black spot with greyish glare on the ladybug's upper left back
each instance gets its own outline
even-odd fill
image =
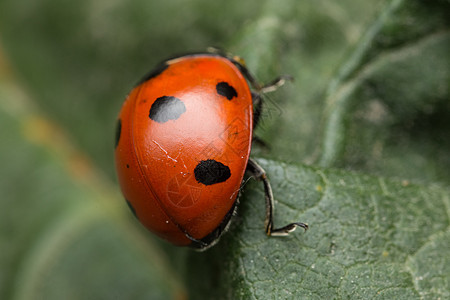
[[[183,101],[173,96],[162,96],[153,102],[148,116],[153,121],[165,123],[178,119],[184,112],[186,112],[186,106]]]

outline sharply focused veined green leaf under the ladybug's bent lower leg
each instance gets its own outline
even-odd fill
[[[264,195],[252,182],[220,245],[191,255],[187,279],[193,298],[449,296],[448,189],[259,162],[273,179],[275,222],[298,220],[310,229],[265,236]]]

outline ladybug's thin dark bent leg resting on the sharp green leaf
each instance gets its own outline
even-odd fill
[[[248,160],[247,171],[249,171],[254,178],[261,180],[264,184],[264,194],[266,199],[266,219],[264,226],[266,227],[266,234],[269,236],[286,236],[290,232],[294,231],[297,227],[302,227],[305,231],[308,229],[308,225],[301,222],[290,223],[281,228],[274,228],[273,225],[273,209],[274,199],[272,193],[272,186],[267,178],[266,171],[258,165],[253,159]]]

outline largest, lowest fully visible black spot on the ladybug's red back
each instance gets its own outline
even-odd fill
[[[202,160],[194,169],[195,179],[204,185],[226,181],[231,176],[230,168],[213,159]]]

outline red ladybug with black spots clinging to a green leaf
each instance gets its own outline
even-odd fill
[[[249,158],[261,95],[287,78],[261,86],[240,57],[219,51],[171,58],[148,73],[116,129],[118,180],[136,218],[175,245],[206,249],[226,230],[247,171],[264,184],[267,235],[306,230],[299,222],[274,228],[269,180]]]

